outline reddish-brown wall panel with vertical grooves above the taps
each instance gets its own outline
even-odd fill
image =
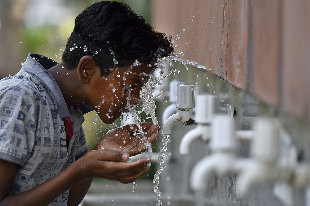
[[[184,58],[310,120],[310,0],[154,0],[153,26]]]

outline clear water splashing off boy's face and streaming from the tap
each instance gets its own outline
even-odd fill
[[[113,51],[110,50],[110,52],[114,56]],[[178,69],[170,69],[170,70],[168,69],[169,66],[173,66],[174,62],[181,63],[182,65],[184,65],[184,67],[186,69],[188,69],[188,65],[191,65],[191,66],[197,67],[199,69],[204,69],[206,71],[209,71],[206,67],[199,65],[197,62],[189,61],[189,60],[180,58],[179,56],[181,56],[181,55],[182,56],[184,55],[182,50],[179,52],[174,52],[171,56],[158,59],[158,62],[155,63],[155,66],[159,67],[161,69],[161,72],[160,72],[161,76],[160,77],[154,77],[153,75],[141,74],[141,75],[147,75],[148,77],[150,77],[149,81],[140,90],[140,102],[142,102],[142,107],[141,107],[142,109],[136,110],[133,105],[130,105],[131,98],[134,98],[131,96],[131,91],[132,91],[131,85],[124,85],[124,88],[123,88],[122,93],[127,96],[126,108],[132,114],[132,118],[134,118],[135,122],[137,122],[137,126],[139,127],[137,133],[138,132],[141,133],[141,135],[139,135],[139,140],[140,140],[140,142],[142,142],[144,144],[144,146],[146,148],[146,152],[149,154],[149,158],[151,158],[153,151],[152,151],[151,143],[149,143],[148,139],[144,136],[144,132],[142,131],[142,127],[139,124],[142,122],[141,118],[139,118],[139,114],[141,114],[142,112],[145,112],[147,119],[152,119],[153,124],[158,124],[157,118],[155,116],[156,105],[154,102],[153,88],[157,84],[160,85],[161,81],[163,79],[166,79],[169,75],[180,72]],[[115,58],[115,56],[114,56],[114,58]],[[116,61],[116,59],[114,61],[114,58],[113,58],[113,62],[115,64],[117,64],[117,61]],[[135,66],[138,66],[138,65],[141,65],[141,63],[138,61],[135,61],[129,67],[127,72],[130,73],[131,69]],[[168,71],[168,73],[166,75],[163,75],[164,73],[166,73],[166,71]],[[124,77],[124,78],[125,79],[123,79],[123,80],[125,82],[126,77]],[[127,93],[125,92],[125,90],[127,91]],[[100,105],[98,105],[97,107],[100,107],[103,103],[104,103],[104,98],[103,98],[103,102]],[[124,112],[122,112],[122,114],[124,114]],[[121,124],[124,125],[124,122],[121,122]],[[165,163],[164,159],[165,159],[165,153],[167,150],[168,140],[169,140],[169,135],[163,135],[162,147],[160,148],[160,156],[157,159],[158,163],[159,163],[159,168],[157,170],[157,173],[154,175],[154,179],[153,179],[153,183],[155,183],[154,192],[156,193],[156,196],[157,196],[157,206],[162,205],[162,202],[160,201],[162,193],[159,190],[159,175],[161,174],[162,170],[165,169],[165,167],[166,167],[166,165],[164,164]]]

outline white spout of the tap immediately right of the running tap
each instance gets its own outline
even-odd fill
[[[202,139],[208,142],[210,139],[210,126],[209,125],[197,125],[195,129],[188,131],[182,138],[179,146],[179,152],[181,155],[190,153],[191,146],[196,139]]]

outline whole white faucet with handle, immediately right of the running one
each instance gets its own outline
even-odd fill
[[[201,94],[197,96],[195,122],[197,127],[188,131],[182,138],[179,146],[179,152],[182,155],[189,154],[194,140],[201,139],[208,142],[211,137],[211,121],[215,112],[216,96],[210,94]]]

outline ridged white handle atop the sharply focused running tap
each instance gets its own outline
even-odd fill
[[[194,85],[181,84],[177,86],[176,107],[177,108],[194,108]]]

